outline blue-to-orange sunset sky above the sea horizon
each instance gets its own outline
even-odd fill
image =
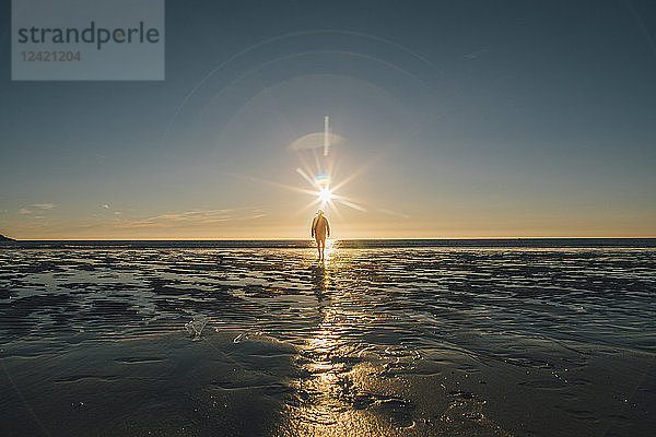
[[[63,82],[10,8],[1,234],[307,238],[326,173],[336,238],[656,237],[653,1],[168,0],[164,81]]]

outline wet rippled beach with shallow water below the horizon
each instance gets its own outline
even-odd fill
[[[656,428],[653,243],[138,246],[0,249],[0,434]]]

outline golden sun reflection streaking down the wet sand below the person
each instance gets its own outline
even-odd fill
[[[300,377],[291,383],[294,398],[277,435],[380,436],[408,429],[367,409],[377,400],[365,380],[377,369],[365,358],[362,345],[349,340],[349,332],[372,315],[348,308],[343,291],[331,290],[331,276],[348,268],[337,247],[336,240],[327,241],[326,260],[312,270],[318,302],[325,300],[317,308],[323,320],[301,347],[296,359]]]

